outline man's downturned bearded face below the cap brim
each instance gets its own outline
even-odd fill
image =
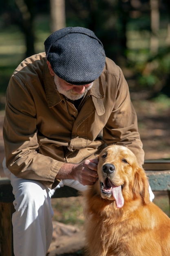
[[[88,83],[86,85],[72,85],[58,77],[56,74],[54,75],[54,82],[57,91],[72,101],[81,99],[84,94],[93,86],[93,83]]]

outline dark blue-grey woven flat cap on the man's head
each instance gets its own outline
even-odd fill
[[[90,29],[66,27],[57,30],[45,40],[44,46],[53,71],[68,83],[91,83],[104,69],[103,45]]]

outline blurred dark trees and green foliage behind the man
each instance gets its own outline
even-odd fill
[[[170,97],[169,0],[1,0],[1,94],[20,61],[44,51],[46,37],[66,26],[93,30],[130,90]]]

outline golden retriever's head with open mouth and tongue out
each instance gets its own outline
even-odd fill
[[[148,180],[131,150],[124,146],[106,147],[98,156],[98,189],[102,198],[115,200],[117,208],[141,198],[150,202]]]

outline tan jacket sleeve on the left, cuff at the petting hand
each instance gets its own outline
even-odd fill
[[[51,186],[63,162],[38,153],[33,97],[17,75],[9,81],[3,126],[7,168],[17,177]]]

